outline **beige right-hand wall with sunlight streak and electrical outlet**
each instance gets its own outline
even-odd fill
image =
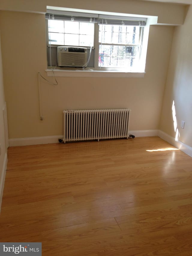
[[[188,8],[187,8],[188,9]],[[178,139],[192,147],[192,6],[188,9],[185,23],[175,29],[162,107],[160,129],[176,137],[173,126],[172,104],[175,102]],[[185,121],[184,129],[180,128]]]

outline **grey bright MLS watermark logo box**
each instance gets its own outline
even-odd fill
[[[1,256],[11,256],[11,255],[21,255],[21,256],[41,256],[41,243],[40,242],[30,242],[30,243],[17,243],[0,242],[0,255]]]

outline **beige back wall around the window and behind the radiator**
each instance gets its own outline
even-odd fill
[[[10,139],[62,135],[65,109],[128,107],[130,130],[159,128],[173,27],[150,27],[144,78],[58,77],[58,86],[41,80],[42,122],[37,75],[46,77],[44,14],[1,11],[0,24]]]

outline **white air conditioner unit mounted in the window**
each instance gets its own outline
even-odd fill
[[[87,48],[58,46],[57,62],[59,67],[85,67],[87,63]]]

